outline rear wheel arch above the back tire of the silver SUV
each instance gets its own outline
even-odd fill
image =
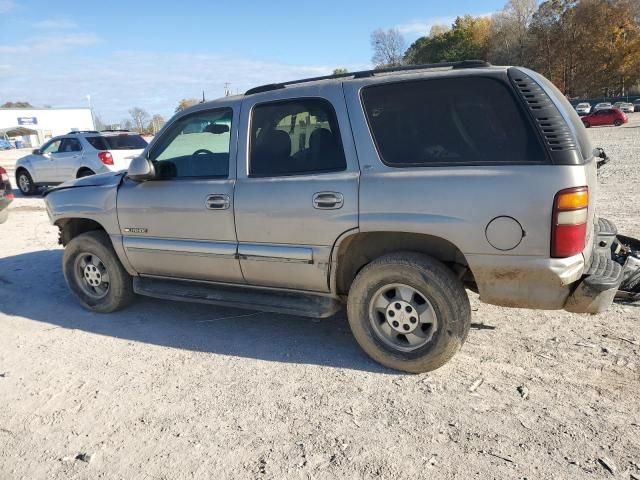
[[[451,268],[459,278],[472,281],[464,254],[445,238],[411,232],[351,230],[337,240],[331,254],[331,291],[346,295],[356,275],[365,265],[382,255],[396,252],[429,255]]]

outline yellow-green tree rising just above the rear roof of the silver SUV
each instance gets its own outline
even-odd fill
[[[451,29],[421,37],[407,50],[408,63],[438,63],[486,59],[489,53],[491,19],[465,15],[456,18]]]

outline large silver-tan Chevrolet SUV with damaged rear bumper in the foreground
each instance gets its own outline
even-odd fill
[[[627,262],[595,215],[594,152],[548,80],[467,61],[196,105],[128,173],[46,203],[88,309],[134,293],[310,317],[346,305],[372,358],[424,372],[467,337],[465,287],[508,307],[609,307]]]

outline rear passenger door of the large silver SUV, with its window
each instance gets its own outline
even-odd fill
[[[296,93],[243,102],[238,255],[247,283],[326,292],[332,246],[358,226],[359,169],[342,86]]]

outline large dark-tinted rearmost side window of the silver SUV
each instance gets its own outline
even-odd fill
[[[460,77],[367,87],[362,100],[392,167],[542,163],[540,141],[508,87]]]

